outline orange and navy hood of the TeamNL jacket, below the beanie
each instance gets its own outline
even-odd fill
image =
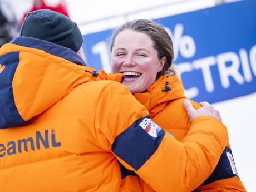
[[[81,83],[122,79],[84,65],[72,50],[36,38],[18,37],[2,46],[0,129],[24,124]]]

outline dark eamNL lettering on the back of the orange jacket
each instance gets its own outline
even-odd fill
[[[45,135],[43,136],[40,131],[36,131],[36,149],[40,150],[41,145],[43,148],[48,149],[49,144],[49,130],[45,130]],[[51,144],[52,147],[60,147],[61,142],[56,142],[55,130],[51,130]],[[11,156],[17,154],[17,149],[19,153],[28,152],[29,150],[35,151],[35,139],[34,137],[28,137],[19,139],[16,141],[9,141],[7,145],[0,143],[0,158],[6,155]],[[6,153],[7,151],[7,153]]]

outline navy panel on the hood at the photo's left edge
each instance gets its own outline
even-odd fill
[[[24,123],[14,104],[12,80],[19,63],[19,52],[0,56],[0,129],[18,126]],[[3,69],[3,67],[5,67]]]

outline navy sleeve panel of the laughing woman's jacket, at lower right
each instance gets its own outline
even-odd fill
[[[206,179],[202,185],[207,185],[217,180],[227,179],[227,178],[232,178],[233,176],[237,176],[236,174],[233,173],[232,167],[230,165],[230,161],[227,156],[227,152],[229,152],[232,155],[231,149],[229,149],[229,147],[225,147],[223,154],[220,156],[218,165],[214,169],[213,173],[211,173],[209,178]]]

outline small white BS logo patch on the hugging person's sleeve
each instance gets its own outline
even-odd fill
[[[151,119],[144,118],[139,124],[142,129],[144,129],[147,134],[149,134],[153,139],[155,139],[159,132],[161,131],[161,128]]]

